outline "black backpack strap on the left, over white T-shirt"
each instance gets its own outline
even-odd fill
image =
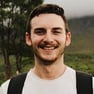
[[[22,88],[27,73],[20,74],[10,80],[7,94],[22,94]]]

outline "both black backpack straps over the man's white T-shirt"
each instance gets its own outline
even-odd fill
[[[10,80],[8,94],[22,94],[22,89],[27,73],[13,77]],[[93,94],[92,76],[76,71],[77,94]]]

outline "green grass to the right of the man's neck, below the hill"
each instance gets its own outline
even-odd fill
[[[68,54],[65,63],[72,68],[94,75],[94,54]]]

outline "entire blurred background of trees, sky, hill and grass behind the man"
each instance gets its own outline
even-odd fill
[[[30,11],[42,3],[65,10],[72,32],[65,63],[94,75],[94,0],[0,0],[0,84],[33,67],[33,51],[24,35]]]

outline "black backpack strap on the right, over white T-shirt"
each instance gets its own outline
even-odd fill
[[[93,94],[92,75],[76,72],[77,94]]]

